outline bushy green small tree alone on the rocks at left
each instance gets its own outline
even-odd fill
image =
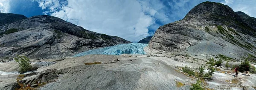
[[[26,71],[32,70],[32,65],[28,57],[17,55],[14,60],[19,63],[20,73],[25,73]]]

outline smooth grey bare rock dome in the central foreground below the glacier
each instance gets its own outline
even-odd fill
[[[120,61],[107,63],[115,58]],[[95,61],[105,64],[84,65]],[[176,81],[186,82],[186,75],[149,57],[86,55],[68,58],[38,71],[49,68],[56,68],[62,74],[58,75],[57,82],[49,83],[41,90],[188,90],[191,87],[189,84],[177,87]]]

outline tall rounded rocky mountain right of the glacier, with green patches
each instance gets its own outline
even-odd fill
[[[241,11],[207,1],[192,8],[182,20],[159,27],[145,51],[186,50],[191,54],[222,54],[233,58],[255,55],[255,24],[255,18]]]

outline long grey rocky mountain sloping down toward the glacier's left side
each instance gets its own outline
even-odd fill
[[[0,28],[0,53],[33,58],[67,57],[90,49],[131,43],[47,15],[32,16]]]

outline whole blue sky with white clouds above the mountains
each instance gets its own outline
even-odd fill
[[[84,29],[137,42],[207,0],[0,0],[0,12],[50,15]],[[256,17],[256,0],[208,0]]]

